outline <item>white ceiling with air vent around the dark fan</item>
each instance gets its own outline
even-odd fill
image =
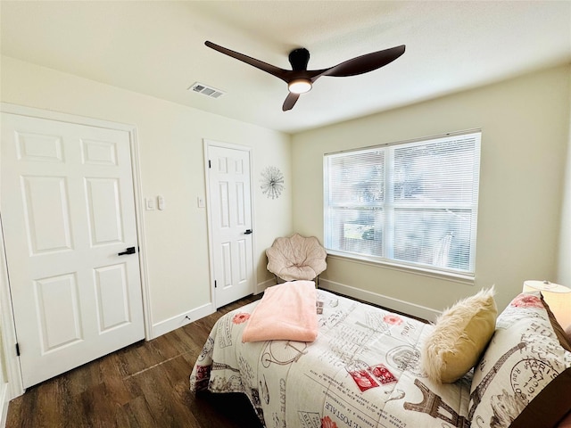
[[[285,132],[571,63],[570,1],[5,1],[4,55]],[[205,40],[309,69],[406,45],[382,69],[320,78],[292,111],[278,78]],[[227,94],[211,99],[194,82]]]

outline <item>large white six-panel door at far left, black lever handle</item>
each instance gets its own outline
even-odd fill
[[[145,336],[129,133],[3,113],[1,145],[27,388]]]

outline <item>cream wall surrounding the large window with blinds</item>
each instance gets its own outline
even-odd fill
[[[368,298],[386,296],[388,305],[404,300],[437,310],[496,284],[503,309],[525,279],[554,280],[569,142],[570,70],[544,70],[295,135],[294,228],[322,239],[324,153],[482,128],[475,284],[338,258],[329,258],[323,284]]]

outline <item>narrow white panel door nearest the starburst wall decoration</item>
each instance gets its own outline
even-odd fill
[[[208,146],[216,307],[252,294],[250,152]]]

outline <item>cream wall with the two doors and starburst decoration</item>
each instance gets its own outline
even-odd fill
[[[292,231],[290,136],[8,57],[1,67],[4,103],[137,127],[142,196],[161,194],[166,202],[166,210],[143,211],[157,331],[211,302],[207,213],[196,201],[206,196],[203,138],[252,147],[254,270],[258,284],[273,278],[264,251],[276,236]],[[260,189],[261,170],[269,165],[285,175],[285,192],[277,200]]]

